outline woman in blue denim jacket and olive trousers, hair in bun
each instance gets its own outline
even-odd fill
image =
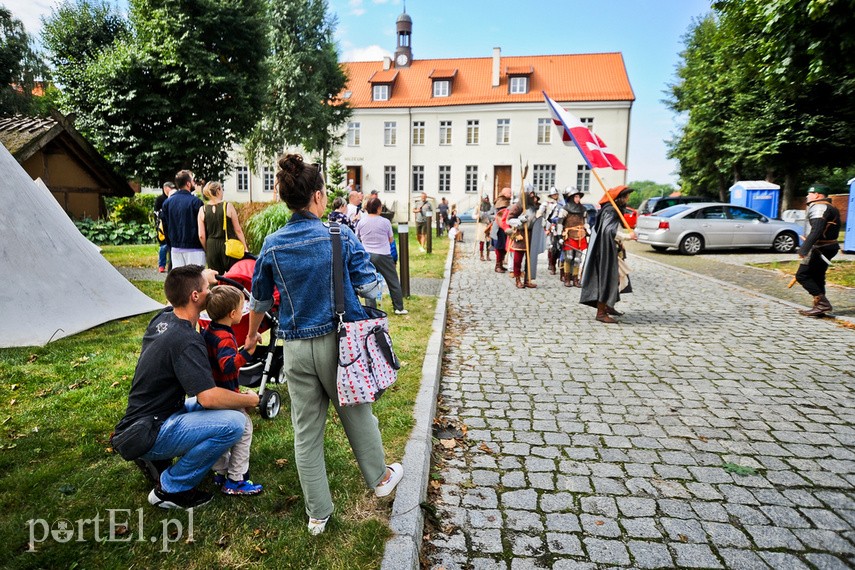
[[[279,290],[279,337],[285,339],[283,373],[291,396],[294,452],[309,516],[309,532],[320,534],[333,512],[324,463],[324,428],[330,402],[336,407],[356,462],[379,497],[389,495],[403,477],[400,464],[386,465],[383,441],[371,405],[339,407],[336,389],[338,340],[335,334],[332,242],[321,222],[327,207],[324,179],[317,165],[289,154],[279,160],[279,196],[294,212],[285,227],[267,236],[255,264],[247,349],[257,341],[264,312]],[[357,294],[376,297],[379,278],[368,253],[346,226],[341,227],[345,320],[368,318]]]

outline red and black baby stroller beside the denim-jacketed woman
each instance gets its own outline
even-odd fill
[[[217,275],[217,281],[237,287],[243,292],[244,298],[249,300],[249,292],[252,288],[252,273],[254,270],[255,258],[247,256],[235,263],[225,274]],[[264,314],[259,332],[264,332],[268,329],[275,331],[279,327],[279,321],[275,316],[278,306],[279,292],[275,291],[273,294],[273,307]],[[208,318],[208,313],[203,312],[199,315],[199,326],[201,328],[206,328],[210,323],[211,319]],[[233,326],[232,329],[234,330],[238,346],[242,346],[246,342],[246,333],[249,330],[249,309],[246,306],[244,306],[241,321]],[[282,407],[282,399],[279,397],[279,392],[267,387],[269,383],[285,383],[285,378],[282,376],[282,363],[282,344],[276,338],[276,335],[271,333],[270,343],[267,346],[262,344],[256,346],[252,360],[240,369],[238,383],[241,386],[258,388],[258,397],[260,400],[258,411],[264,419],[275,418]]]

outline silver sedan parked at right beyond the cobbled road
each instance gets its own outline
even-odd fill
[[[635,228],[638,243],[656,251],[670,247],[695,255],[705,249],[768,247],[779,253],[794,251],[804,228],[770,220],[760,212],[717,202],[679,204],[640,216]]]

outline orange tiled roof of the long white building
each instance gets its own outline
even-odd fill
[[[377,82],[375,74],[383,72],[383,62],[347,62],[342,64],[350,78],[346,101],[357,109],[532,103],[543,102],[541,91],[561,102],[635,100],[620,53],[502,56],[500,63],[499,86],[493,87],[492,57],[415,59],[408,68],[390,69],[398,75],[389,100],[373,101],[369,81]],[[534,72],[529,75],[528,93],[509,94],[507,71],[529,67]],[[431,73],[439,69],[457,70],[448,97],[432,97]]]

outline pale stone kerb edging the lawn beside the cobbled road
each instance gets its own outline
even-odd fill
[[[415,426],[404,448],[404,479],[395,491],[389,527],[395,535],[386,541],[381,570],[418,570],[422,549],[424,514],[421,503],[427,499],[430,458],[433,447],[433,417],[436,414],[436,397],[442,374],[443,339],[448,313],[448,289],[451,284],[451,265],[455,244],[449,244],[445,260],[442,287],[433,314],[433,332],[427,344],[422,364],[422,381],[413,409]]]

